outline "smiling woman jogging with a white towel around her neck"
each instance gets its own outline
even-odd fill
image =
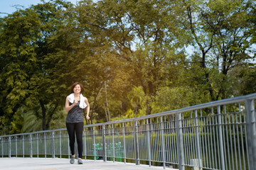
[[[66,118],[66,126],[70,140],[71,159],[70,164],[75,162],[75,136],[78,144],[78,164],[82,164],[82,130],[84,119],[82,109],[86,108],[86,118],[90,119],[90,105],[86,97],[82,96],[83,86],[79,82],[75,82],[71,89],[70,95],[65,100],[65,111],[68,112]]]

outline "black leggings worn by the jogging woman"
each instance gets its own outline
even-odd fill
[[[80,123],[66,123],[68,136],[70,140],[70,150],[71,154],[75,154],[75,135],[78,143],[78,157],[82,158],[82,130],[83,122]]]

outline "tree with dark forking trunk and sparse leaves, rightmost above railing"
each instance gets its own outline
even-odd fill
[[[252,1],[183,1],[185,23],[191,45],[201,51],[203,84],[211,101],[226,98],[228,71],[249,59]],[[203,85],[202,84],[202,85]],[[207,95],[207,94],[206,94]]]

